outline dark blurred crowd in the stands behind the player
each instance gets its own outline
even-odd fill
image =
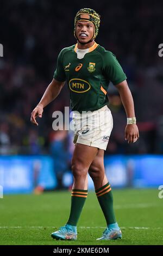
[[[53,78],[60,50],[76,44],[74,15],[83,7],[101,15],[96,42],[116,54],[126,72],[140,130],[137,143],[124,141],[126,114],[117,90],[109,86],[114,129],[106,154],[162,154],[163,57],[158,56],[158,45],[163,43],[163,16],[162,2],[157,3],[105,0],[67,1],[63,5],[52,0],[2,0],[0,155],[51,154],[58,158],[65,152],[64,161],[70,160],[72,133],[52,129],[52,113],[69,106],[67,85],[45,108],[38,127],[30,124],[30,113]]]

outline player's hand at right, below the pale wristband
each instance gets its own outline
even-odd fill
[[[139,130],[136,124],[128,124],[125,129],[125,140],[134,143],[139,139]]]

